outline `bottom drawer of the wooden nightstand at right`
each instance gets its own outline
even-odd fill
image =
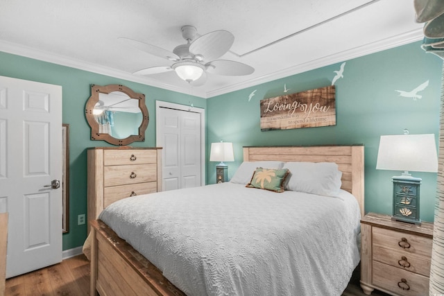
[[[373,261],[373,285],[397,295],[429,295],[429,278]]]

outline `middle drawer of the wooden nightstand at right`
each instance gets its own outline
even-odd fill
[[[373,247],[373,260],[392,265],[395,268],[409,270],[426,277],[430,274],[430,257],[411,254],[391,247],[377,245]]]

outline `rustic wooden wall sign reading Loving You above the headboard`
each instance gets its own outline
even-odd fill
[[[336,125],[334,85],[261,100],[261,130]]]

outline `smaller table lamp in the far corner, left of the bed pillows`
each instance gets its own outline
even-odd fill
[[[233,143],[212,143],[210,162],[220,162],[216,165],[216,183],[228,181],[228,165],[223,162],[234,162]]]

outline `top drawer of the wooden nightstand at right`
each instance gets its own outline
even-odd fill
[[[373,227],[373,245],[382,245],[409,254],[432,256],[432,238]]]

